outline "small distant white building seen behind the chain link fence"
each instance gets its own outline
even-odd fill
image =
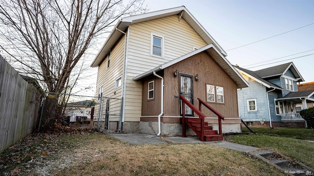
[[[70,123],[89,124],[93,116],[93,101],[84,100],[68,103],[65,114],[70,117]]]

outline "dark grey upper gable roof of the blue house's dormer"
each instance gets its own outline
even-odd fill
[[[296,67],[294,66],[292,62],[282,64],[279,66],[272,66],[272,67],[260,69],[260,70],[254,71],[254,73],[259,75],[261,78],[270,78],[274,76],[284,75],[288,71],[288,69],[291,70],[297,82],[304,81],[301,74],[299,73],[299,71],[296,69]]]

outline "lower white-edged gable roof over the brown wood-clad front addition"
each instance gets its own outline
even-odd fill
[[[165,69],[168,66],[172,66],[176,63],[183,61],[184,59],[187,59],[187,58],[194,56],[194,55],[201,53],[201,52],[207,52],[212,57],[212,59],[219,66],[221,66],[226,71],[226,73],[235,81],[235,83],[237,84],[237,88],[249,87],[248,82],[236,71],[235,67],[229,63],[229,61],[225,58],[225,56],[223,54],[221,54],[221,52],[219,52],[219,50],[213,44],[206,45],[206,46],[199,48],[195,51],[187,53],[187,54],[185,54],[185,55],[183,55],[183,56],[181,56],[175,60],[169,61],[169,62],[162,64],[160,66],[157,66],[157,67],[155,67],[149,71],[146,71],[142,74],[139,74],[139,75],[135,76],[133,78],[133,80],[135,80],[135,81],[140,80],[140,79],[142,79],[148,75],[153,74],[154,71],[159,71],[159,70]]]

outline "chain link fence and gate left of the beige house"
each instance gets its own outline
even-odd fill
[[[51,98],[54,93],[46,93],[45,98]],[[59,94],[70,96],[64,111],[66,125],[84,125],[98,130],[122,132],[122,99],[110,97],[94,97],[74,94]],[[42,106],[42,111],[44,106]]]

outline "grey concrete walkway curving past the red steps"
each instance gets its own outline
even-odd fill
[[[249,153],[254,155],[263,161],[273,165],[279,170],[282,170],[286,174],[289,173],[294,176],[307,176],[314,174],[314,169],[310,168],[302,163],[299,163],[305,169],[289,168],[288,160],[277,160],[269,159],[273,156],[274,153],[268,150],[262,150],[260,148],[236,144],[233,142],[227,141],[215,141],[215,142],[203,142],[197,136],[188,136],[188,137],[158,137],[157,135],[141,134],[141,133],[128,133],[128,134],[118,134],[118,133],[106,133],[112,137],[125,141],[129,144],[165,144],[169,142],[174,143],[204,143],[209,145],[221,146],[227,149],[232,149],[239,152]],[[285,156],[284,156],[285,157]],[[287,158],[287,157],[286,157]]]

